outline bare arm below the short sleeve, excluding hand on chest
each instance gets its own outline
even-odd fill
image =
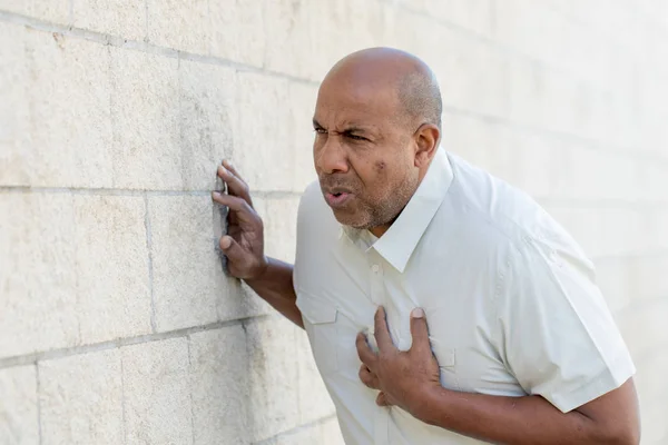
[[[500,444],[635,445],[640,441],[632,379],[569,413],[540,396],[502,397],[432,388],[418,397],[415,417]]]

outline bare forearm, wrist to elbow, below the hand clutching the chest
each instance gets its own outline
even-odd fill
[[[539,396],[503,397],[440,388],[420,399],[421,421],[495,444],[615,444],[616,437],[572,411]],[[626,443],[626,442],[620,442]]]

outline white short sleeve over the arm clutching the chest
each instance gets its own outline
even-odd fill
[[[577,251],[529,238],[510,248],[497,309],[507,367],[528,394],[563,413],[636,372],[593,266]]]

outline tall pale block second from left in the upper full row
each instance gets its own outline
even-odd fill
[[[30,185],[110,187],[108,48],[28,30],[26,63],[30,138],[19,168]]]

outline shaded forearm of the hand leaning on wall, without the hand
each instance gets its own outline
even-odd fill
[[[297,296],[293,286],[293,265],[267,258],[267,268],[261,277],[245,280],[257,295],[274,309],[299,327],[304,327],[302,313],[297,308]]]

